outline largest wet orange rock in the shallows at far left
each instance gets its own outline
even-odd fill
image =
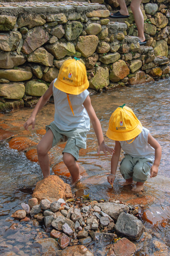
[[[23,151],[25,149],[28,149],[31,146],[35,146],[38,143],[31,141],[31,139],[24,137],[24,136],[19,136],[12,138],[9,141],[9,146],[11,149],[17,149],[18,151]]]

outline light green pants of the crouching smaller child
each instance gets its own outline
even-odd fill
[[[144,157],[131,157],[125,154],[120,163],[119,170],[124,179],[133,178],[136,182],[145,182],[153,163]]]

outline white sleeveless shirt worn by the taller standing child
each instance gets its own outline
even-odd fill
[[[57,78],[54,80],[56,82]],[[53,97],[55,105],[54,124],[63,131],[69,131],[74,128],[86,129],[90,131],[90,118],[83,102],[89,95],[84,90],[78,95],[69,94],[70,102],[73,107],[74,115],[70,109],[67,100],[67,94],[57,89],[53,84]]]

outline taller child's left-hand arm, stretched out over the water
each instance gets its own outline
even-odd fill
[[[43,96],[41,96],[41,98],[37,102],[34,110],[32,111],[31,117],[28,118],[28,120],[24,123],[25,130],[28,131],[29,125],[32,125],[32,129],[34,129],[35,117],[36,117],[37,113],[42,109],[42,107],[47,103],[47,101],[53,94],[53,82],[54,82],[54,80],[50,83],[49,88],[46,90],[46,92],[43,94]]]

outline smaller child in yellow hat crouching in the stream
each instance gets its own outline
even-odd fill
[[[126,180],[122,185],[136,181],[136,187],[132,190],[142,190],[147,175],[150,174],[152,178],[158,173],[162,151],[160,144],[151,136],[148,129],[142,127],[133,111],[125,104],[118,107],[111,115],[106,134],[110,139],[115,140],[115,153],[111,160],[108,182],[113,186],[122,148],[125,157],[119,169]]]

